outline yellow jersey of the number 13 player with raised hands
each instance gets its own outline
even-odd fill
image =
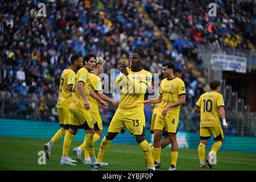
[[[118,105],[119,110],[143,110],[144,109],[144,94],[142,90],[146,90],[151,85],[152,75],[150,72],[141,69],[141,71],[133,72],[127,68],[129,75],[126,77],[120,73],[123,84],[121,90],[120,102]],[[115,80],[115,85],[118,84],[119,77]],[[138,86],[137,89],[135,86]],[[137,90],[137,91],[136,91]],[[139,90],[139,92],[138,92]]]

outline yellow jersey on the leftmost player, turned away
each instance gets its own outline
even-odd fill
[[[70,101],[72,100],[72,92],[69,92],[68,86],[75,82],[76,73],[73,69],[64,69],[60,77],[59,98],[57,107],[68,109]]]

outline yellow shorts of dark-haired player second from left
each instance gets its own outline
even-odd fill
[[[88,110],[70,109],[68,126],[72,129],[92,129],[93,121]]]

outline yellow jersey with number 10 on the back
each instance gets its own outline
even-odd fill
[[[196,106],[200,108],[200,127],[220,126],[218,107],[224,106],[222,94],[206,92],[199,97]]]

